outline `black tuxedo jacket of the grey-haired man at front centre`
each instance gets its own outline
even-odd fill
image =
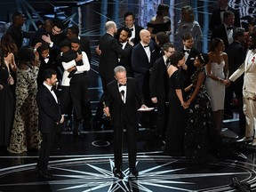
[[[137,81],[132,77],[127,77],[125,104],[116,80],[108,84],[106,95],[106,105],[110,109],[114,127],[118,127],[124,122],[122,121],[122,116],[124,116],[127,122],[135,128],[137,126],[137,109],[144,103]]]

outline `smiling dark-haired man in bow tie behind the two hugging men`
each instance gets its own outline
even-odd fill
[[[138,25],[135,25],[135,15],[132,12],[125,12],[124,13],[124,22],[125,26],[122,28],[118,28],[117,30],[117,38],[120,35],[123,28],[128,28],[131,31],[131,36],[129,38],[129,41],[132,42],[132,44],[139,44],[140,43],[140,30],[143,29]]]

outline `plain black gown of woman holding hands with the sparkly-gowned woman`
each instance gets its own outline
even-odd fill
[[[187,122],[186,110],[180,104],[175,92],[176,89],[181,89],[184,95],[183,78],[180,69],[175,71],[169,78],[169,120],[164,148],[164,154],[169,156],[183,155],[184,130]]]

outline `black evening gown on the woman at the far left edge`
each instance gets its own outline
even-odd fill
[[[14,100],[8,84],[8,77],[8,69],[2,64],[0,66],[0,84],[4,88],[0,90],[0,146],[4,147],[9,144],[14,115]]]

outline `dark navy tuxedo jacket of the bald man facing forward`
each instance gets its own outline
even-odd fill
[[[136,44],[132,48],[132,69],[134,73],[145,75],[150,68],[152,68],[153,63],[156,60],[158,52],[156,50],[156,44],[153,41],[149,43],[149,49],[151,52],[150,62],[148,62],[147,53],[144,50],[142,44]]]

